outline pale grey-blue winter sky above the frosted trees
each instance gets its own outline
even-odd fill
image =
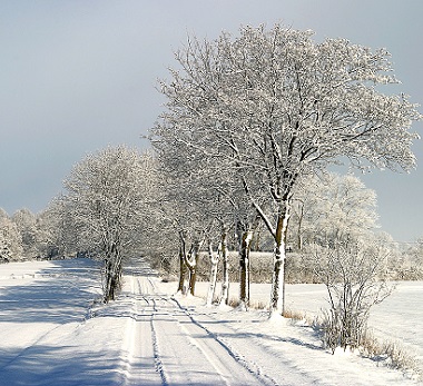
[[[402,81],[395,92],[423,103],[422,14],[422,0],[0,0],[0,207],[38,212],[86,154],[148,147],[140,136],[164,101],[157,78],[187,34],[282,21],[316,39],[387,48]],[[423,135],[423,123],[414,130]],[[417,170],[363,178],[377,192],[382,229],[399,241],[423,236],[422,142]]]

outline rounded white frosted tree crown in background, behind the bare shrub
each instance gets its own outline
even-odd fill
[[[363,237],[377,227],[376,205],[376,192],[353,175],[308,177],[294,194],[292,243],[302,249],[304,239],[326,245]]]

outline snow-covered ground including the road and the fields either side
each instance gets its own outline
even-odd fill
[[[146,266],[128,270],[102,305],[99,270],[85,259],[0,265],[0,385],[417,385],[401,372],[321,349],[312,328],[265,313],[174,299]],[[198,284],[205,293],[206,284]],[[232,287],[236,294],[236,286]],[[401,284],[373,313],[375,333],[422,355],[423,283]],[[267,300],[268,287],[252,297]],[[289,308],[314,315],[322,286],[287,288]]]

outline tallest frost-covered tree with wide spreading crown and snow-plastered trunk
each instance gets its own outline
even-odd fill
[[[276,24],[189,39],[161,82],[167,109],[156,125],[203,162],[225,159],[266,224],[274,249],[272,313],[283,313],[286,235],[301,177],[345,159],[354,166],[410,170],[421,118],[396,83],[388,52]],[[186,155],[180,155],[181,157]],[[258,196],[257,196],[258,194]],[[265,201],[258,197],[267,197]]]

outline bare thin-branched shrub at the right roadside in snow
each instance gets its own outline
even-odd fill
[[[321,324],[323,343],[332,352],[358,348],[365,340],[370,309],[393,290],[383,279],[387,251],[376,243],[354,241],[316,246],[314,257],[329,301]]]

